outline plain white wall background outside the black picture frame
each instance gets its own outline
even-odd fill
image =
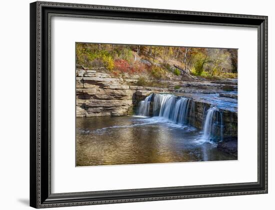
[[[1,2],[0,12],[0,208],[4,210],[23,210],[28,207],[29,176],[29,0]],[[76,0],[63,0],[76,2]],[[94,210],[140,210],[140,209],[272,209],[274,207],[275,182],[273,182],[273,161],[275,144],[271,121],[274,119],[275,80],[272,73],[273,13],[275,6],[268,0],[78,0],[78,3],[151,7],[166,9],[197,10],[226,13],[268,15],[268,64],[269,64],[269,194],[174,200],[160,202],[142,202],[130,204],[72,207],[70,209]],[[273,25],[272,25],[273,24]],[[273,27],[272,27],[273,26]],[[248,69],[249,70],[249,69]]]

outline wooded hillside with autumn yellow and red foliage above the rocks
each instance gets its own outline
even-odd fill
[[[237,49],[76,43],[76,64],[104,67],[113,76],[236,78]]]

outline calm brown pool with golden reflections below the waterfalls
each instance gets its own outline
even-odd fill
[[[236,160],[200,137],[159,117],[76,118],[76,166]]]

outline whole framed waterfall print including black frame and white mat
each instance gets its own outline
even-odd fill
[[[267,16],[30,4],[30,206],[267,193]]]

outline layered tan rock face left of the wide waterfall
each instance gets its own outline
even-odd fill
[[[131,112],[132,96],[122,77],[111,78],[97,69],[76,69],[76,116],[121,116]]]

